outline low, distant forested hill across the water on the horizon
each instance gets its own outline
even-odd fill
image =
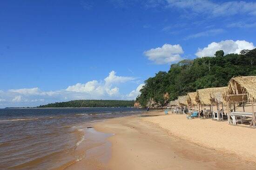
[[[76,100],[66,102],[56,102],[47,105],[40,105],[39,108],[45,107],[133,107],[134,101],[116,101],[116,100]]]

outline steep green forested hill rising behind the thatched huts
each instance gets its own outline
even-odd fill
[[[225,56],[219,50],[215,56],[183,60],[172,64],[168,72],[159,71],[145,81],[136,101],[142,107],[150,103],[151,106],[152,103],[164,106],[168,101],[196,89],[227,86],[233,76],[256,75],[256,49]]]

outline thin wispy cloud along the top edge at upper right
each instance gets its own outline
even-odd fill
[[[186,9],[197,14],[205,13],[215,17],[239,13],[256,15],[256,2],[214,2],[211,0],[167,0],[167,2],[169,7]]]

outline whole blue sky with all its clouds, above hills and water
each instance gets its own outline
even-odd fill
[[[254,0],[2,0],[0,108],[134,100],[183,59],[256,45]]]

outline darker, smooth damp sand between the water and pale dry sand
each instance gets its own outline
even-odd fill
[[[94,124],[98,132],[115,134],[106,139],[111,145],[101,145],[100,149],[95,150],[92,160],[80,161],[70,166],[69,169],[91,170],[88,165],[91,167],[93,165],[94,170],[256,169],[254,161],[241,157],[239,153],[229,151],[227,148],[221,150],[207,147],[200,141],[192,142],[182,135],[171,133],[171,128],[163,128],[156,124],[157,121],[169,122],[174,118],[172,116],[175,115],[165,116],[163,112],[153,112],[142,117],[115,118]],[[176,128],[179,126],[182,124],[178,124]],[[204,127],[202,130],[207,131]],[[209,136],[211,136],[210,133],[204,138],[208,139]],[[246,147],[246,144],[241,146],[243,147]],[[254,151],[251,150],[251,152]],[[107,157],[105,162],[102,161],[104,157]]]

